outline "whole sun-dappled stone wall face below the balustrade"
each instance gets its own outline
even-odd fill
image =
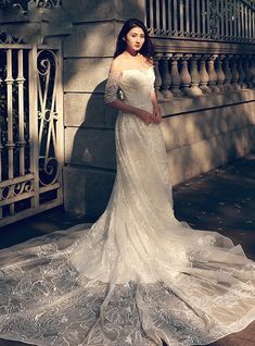
[[[239,104],[225,104],[226,96],[221,107],[208,109],[211,96],[200,96],[201,110],[166,116],[163,132],[174,185],[254,150],[255,120],[252,103],[242,103],[243,92],[231,96]]]

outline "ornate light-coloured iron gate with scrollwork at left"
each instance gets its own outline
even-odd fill
[[[63,202],[61,57],[0,45],[0,226]]]

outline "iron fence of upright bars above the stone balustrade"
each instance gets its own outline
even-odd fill
[[[146,0],[152,36],[181,39],[255,40],[255,3],[248,0]]]

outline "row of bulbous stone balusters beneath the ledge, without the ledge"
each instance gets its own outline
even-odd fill
[[[195,97],[255,87],[255,55],[157,53],[155,89],[160,99]]]

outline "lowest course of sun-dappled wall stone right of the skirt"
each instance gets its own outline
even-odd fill
[[[182,183],[254,149],[254,125],[173,148],[167,152],[171,183]]]

